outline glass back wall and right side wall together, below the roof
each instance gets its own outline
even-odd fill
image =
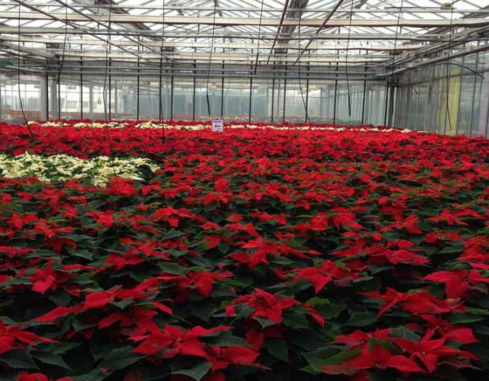
[[[24,117],[223,117],[245,122],[386,125],[388,94],[385,81],[224,77],[207,82],[191,77],[104,79],[83,75],[61,75],[58,81],[53,75],[0,73],[0,119],[22,123]],[[396,127],[489,137],[489,52],[406,71],[395,87],[393,115]]]

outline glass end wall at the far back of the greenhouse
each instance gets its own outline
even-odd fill
[[[24,122],[25,115],[27,120],[223,117],[245,122],[386,124],[384,81],[224,77],[207,82],[191,77],[66,75],[58,80],[51,75],[1,73],[0,88],[0,118],[15,123]]]

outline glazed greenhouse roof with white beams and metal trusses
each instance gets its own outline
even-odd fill
[[[443,1],[0,0],[0,58],[24,71],[385,76],[489,49],[489,0]]]

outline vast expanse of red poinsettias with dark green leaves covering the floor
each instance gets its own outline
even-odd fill
[[[149,157],[0,178],[0,380],[484,380],[489,141],[0,126],[0,152]]]

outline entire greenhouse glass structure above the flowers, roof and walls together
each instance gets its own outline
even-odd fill
[[[0,119],[22,119],[22,99],[29,120],[222,117],[487,137],[485,0],[240,1],[2,1]]]

